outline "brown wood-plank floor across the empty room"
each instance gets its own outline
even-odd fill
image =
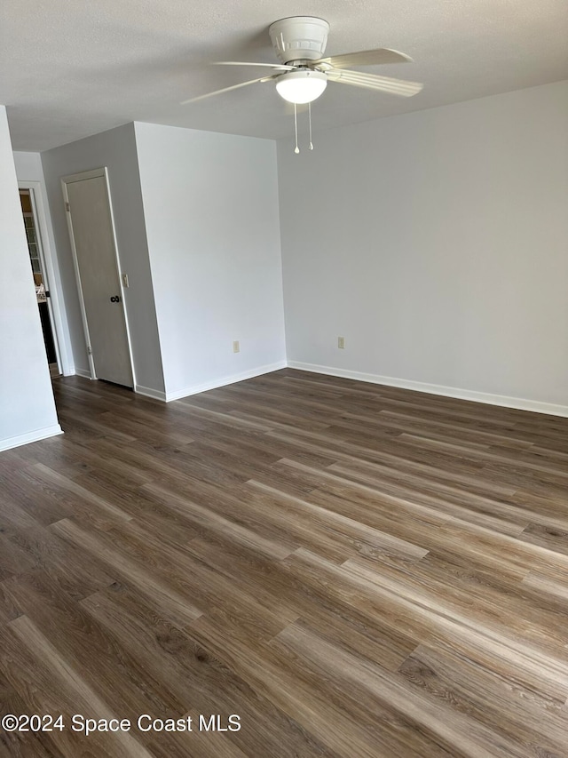
[[[66,434],[0,455],[0,703],[63,728],[0,754],[568,755],[568,419],[292,370],[54,387]]]

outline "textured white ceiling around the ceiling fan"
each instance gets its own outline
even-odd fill
[[[567,0],[3,0],[0,102],[14,149],[44,150],[133,120],[289,135],[272,83],[178,103],[258,70],[211,61],[275,62],[268,26],[293,15],[329,21],[329,55],[406,52],[414,64],[365,70],[425,85],[403,99],[329,84],[312,107],[314,132],[568,78]]]

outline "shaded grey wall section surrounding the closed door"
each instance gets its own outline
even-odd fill
[[[76,370],[88,374],[89,362],[60,178],[67,174],[106,166],[122,273],[129,276],[130,287],[123,291],[123,297],[129,319],[136,385],[139,391],[163,395],[162,358],[140,195],[134,125],[125,124],[108,132],[47,150],[42,153],[42,164],[51,206],[53,233],[59,256]]]

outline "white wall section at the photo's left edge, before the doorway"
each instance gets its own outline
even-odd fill
[[[6,450],[61,430],[4,106],[0,106],[0,271],[0,450]]]

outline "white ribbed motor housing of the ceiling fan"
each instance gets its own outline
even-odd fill
[[[268,32],[282,63],[319,60],[326,49],[329,24],[313,16],[293,16],[274,21]]]

